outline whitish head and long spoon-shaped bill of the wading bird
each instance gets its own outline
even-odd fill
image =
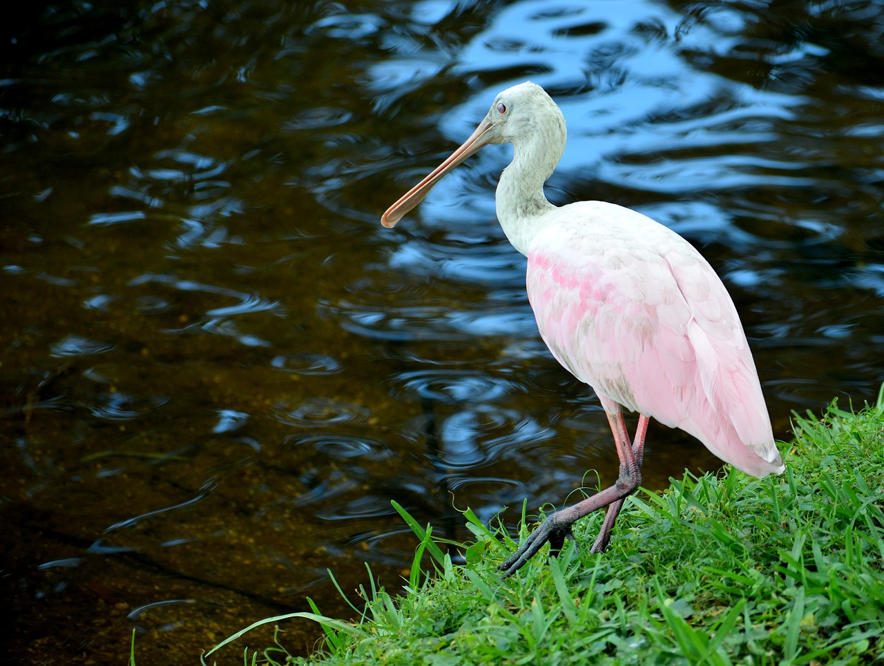
[[[545,180],[559,162],[565,146],[565,133],[565,118],[542,87],[531,81],[508,87],[494,98],[491,109],[469,139],[429,176],[387,208],[381,217],[381,223],[390,228],[399,222],[408,211],[423,201],[439,178],[490,143],[512,143],[516,155],[528,143],[545,146],[549,154],[549,159],[546,160],[549,162],[549,169],[543,178]]]

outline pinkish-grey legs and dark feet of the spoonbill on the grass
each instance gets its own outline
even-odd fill
[[[576,503],[566,509],[556,511],[547,517],[537,529],[528,535],[525,541],[518,549],[509,556],[503,564],[498,565],[498,569],[503,571],[502,578],[513,575],[516,571],[537,554],[537,551],[545,544],[550,543],[552,553],[561,549],[566,538],[573,538],[571,526],[583,516],[598,511],[603,507],[609,506],[615,502],[622,500],[624,497],[631,495],[636,491],[642,482],[641,465],[637,460],[644,457],[644,430],[647,428],[647,420],[644,425],[639,420],[638,432],[636,432],[636,440],[640,443],[638,446],[638,456],[633,453],[632,445],[629,443],[629,434],[626,430],[626,424],[623,422],[620,405],[617,405],[608,398],[602,398],[602,405],[605,406],[605,412],[608,422],[611,424],[613,432],[614,445],[617,448],[617,457],[620,458],[620,475],[613,486],[599,490],[598,493],[591,497],[587,497],[582,502]],[[644,418],[644,417],[642,417]],[[637,435],[641,435],[639,438]],[[636,460],[637,458],[637,460]],[[618,509],[619,511],[619,509]],[[605,523],[609,522],[606,516]],[[613,527],[614,520],[617,518],[617,512],[610,516],[610,525],[607,526],[608,532]],[[598,541],[597,541],[598,543]],[[607,545],[607,540],[605,541]],[[593,546],[595,548],[595,546]]]

